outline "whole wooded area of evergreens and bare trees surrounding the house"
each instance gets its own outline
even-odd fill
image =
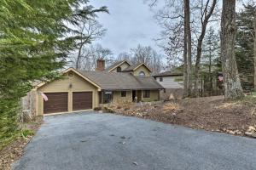
[[[218,81],[225,99],[256,89],[255,2],[237,11],[236,0],[165,0],[157,9],[158,0],[147,3],[162,28],[155,39],[165,55],[136,44],[113,56],[112,49],[93,43],[107,32],[97,14],[108,8],[88,0],[0,1],[0,140],[18,132],[20,99],[34,82],[53,80],[67,66],[95,70],[96,59],[107,66],[122,59],[144,62],[153,74],[182,68],[185,98],[199,97],[201,80],[209,95]]]

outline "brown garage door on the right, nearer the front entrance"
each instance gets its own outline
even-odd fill
[[[73,92],[73,111],[92,109],[92,92]]]

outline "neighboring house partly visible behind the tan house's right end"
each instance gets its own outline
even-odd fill
[[[178,69],[165,71],[154,75],[154,79],[165,88],[160,92],[160,99],[166,100],[171,98],[181,99],[183,97],[183,72]]]

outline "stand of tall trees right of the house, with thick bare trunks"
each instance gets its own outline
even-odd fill
[[[151,8],[160,3],[149,2]],[[226,99],[242,98],[242,88],[253,91],[255,2],[179,3],[166,0],[164,7],[157,8],[155,18],[163,28],[157,42],[166,52],[168,65],[183,66],[184,97],[198,97],[201,80],[208,84],[208,94],[212,94],[214,79],[223,83]]]

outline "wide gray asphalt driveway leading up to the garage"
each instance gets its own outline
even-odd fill
[[[44,120],[13,169],[256,169],[256,139],[93,112]]]

